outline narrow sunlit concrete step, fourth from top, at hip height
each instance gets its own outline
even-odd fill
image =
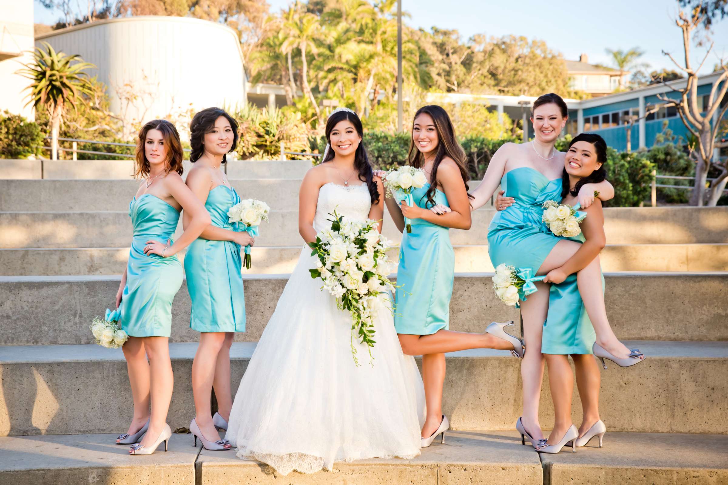
[[[488,246],[454,246],[457,273],[493,271]],[[301,246],[256,246],[249,273],[290,273]],[[389,250],[393,261],[399,248]],[[0,276],[117,275],[127,267],[129,248],[0,249]],[[179,254],[184,259],[184,252]],[[605,271],[724,271],[728,244],[613,244],[600,254]]]

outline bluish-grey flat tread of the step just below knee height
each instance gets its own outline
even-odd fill
[[[668,342],[660,340],[625,340],[629,348],[639,348],[649,358],[728,358],[728,342]],[[257,342],[233,342],[230,358],[249,359]],[[197,342],[170,342],[170,358],[191,360]],[[510,358],[507,350],[476,348],[446,353],[448,358]],[[61,363],[87,361],[124,361],[120,348],[83,345],[0,345],[0,364]],[[615,367],[617,364],[612,364]],[[607,362],[607,366],[612,366]]]

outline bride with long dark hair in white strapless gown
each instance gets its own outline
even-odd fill
[[[354,220],[381,220],[384,188],[373,177],[362,136],[354,111],[339,108],[329,117],[331,150],[301,183],[298,231],[306,243],[331,228],[333,209]],[[388,305],[380,305],[374,321],[373,366],[355,366],[351,316],[311,277],[317,259],[310,254],[308,246],[301,251],[250,359],[225,438],[238,457],[282,475],[331,470],[334,461],[416,457],[422,378],[414,358],[402,353]],[[359,355],[368,355],[359,347]]]

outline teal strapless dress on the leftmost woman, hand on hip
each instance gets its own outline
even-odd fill
[[[172,300],[182,286],[182,263],[176,256],[144,254],[144,246],[150,239],[162,244],[171,240],[180,214],[159,197],[145,193],[132,199],[129,215],[134,237],[119,323],[130,337],[169,337]]]

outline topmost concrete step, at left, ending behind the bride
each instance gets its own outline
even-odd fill
[[[133,160],[0,160],[3,180],[130,180]],[[189,160],[183,162],[189,172]],[[236,160],[226,167],[229,178],[292,178],[301,179],[312,167],[309,160]],[[184,176],[184,175],[183,175]]]

